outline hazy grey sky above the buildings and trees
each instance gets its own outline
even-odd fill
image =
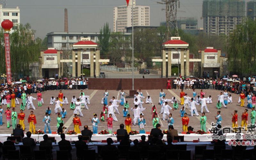
[[[159,26],[165,20],[161,0],[136,0],[136,5],[150,6],[150,25]],[[125,0],[7,0],[7,8],[20,7],[20,22],[30,23],[36,37],[44,38],[49,32],[64,31],[64,9],[68,9],[69,32],[99,32],[108,22],[113,31],[113,7],[125,5]],[[199,28],[203,0],[180,0],[180,17],[196,17]]]

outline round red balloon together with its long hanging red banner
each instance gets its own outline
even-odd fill
[[[4,44],[5,44],[5,63],[6,63],[6,77],[7,84],[12,84],[12,71],[11,71],[11,52],[10,52],[10,40],[9,32],[13,27],[13,23],[10,20],[4,20],[1,23],[4,28]]]

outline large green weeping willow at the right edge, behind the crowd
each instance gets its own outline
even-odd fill
[[[228,38],[228,67],[233,73],[249,75],[256,68],[256,22],[244,19]]]

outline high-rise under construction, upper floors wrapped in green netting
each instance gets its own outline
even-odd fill
[[[204,32],[229,35],[245,17],[244,0],[204,0]]]

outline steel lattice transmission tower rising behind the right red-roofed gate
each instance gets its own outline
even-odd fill
[[[162,0],[162,2],[157,2],[158,4],[165,4],[166,14],[166,41],[169,40],[170,36],[179,36],[178,25],[177,25],[177,8],[180,8],[179,0]],[[179,4],[179,5],[178,5]],[[172,34],[170,28],[174,29],[174,33]]]

